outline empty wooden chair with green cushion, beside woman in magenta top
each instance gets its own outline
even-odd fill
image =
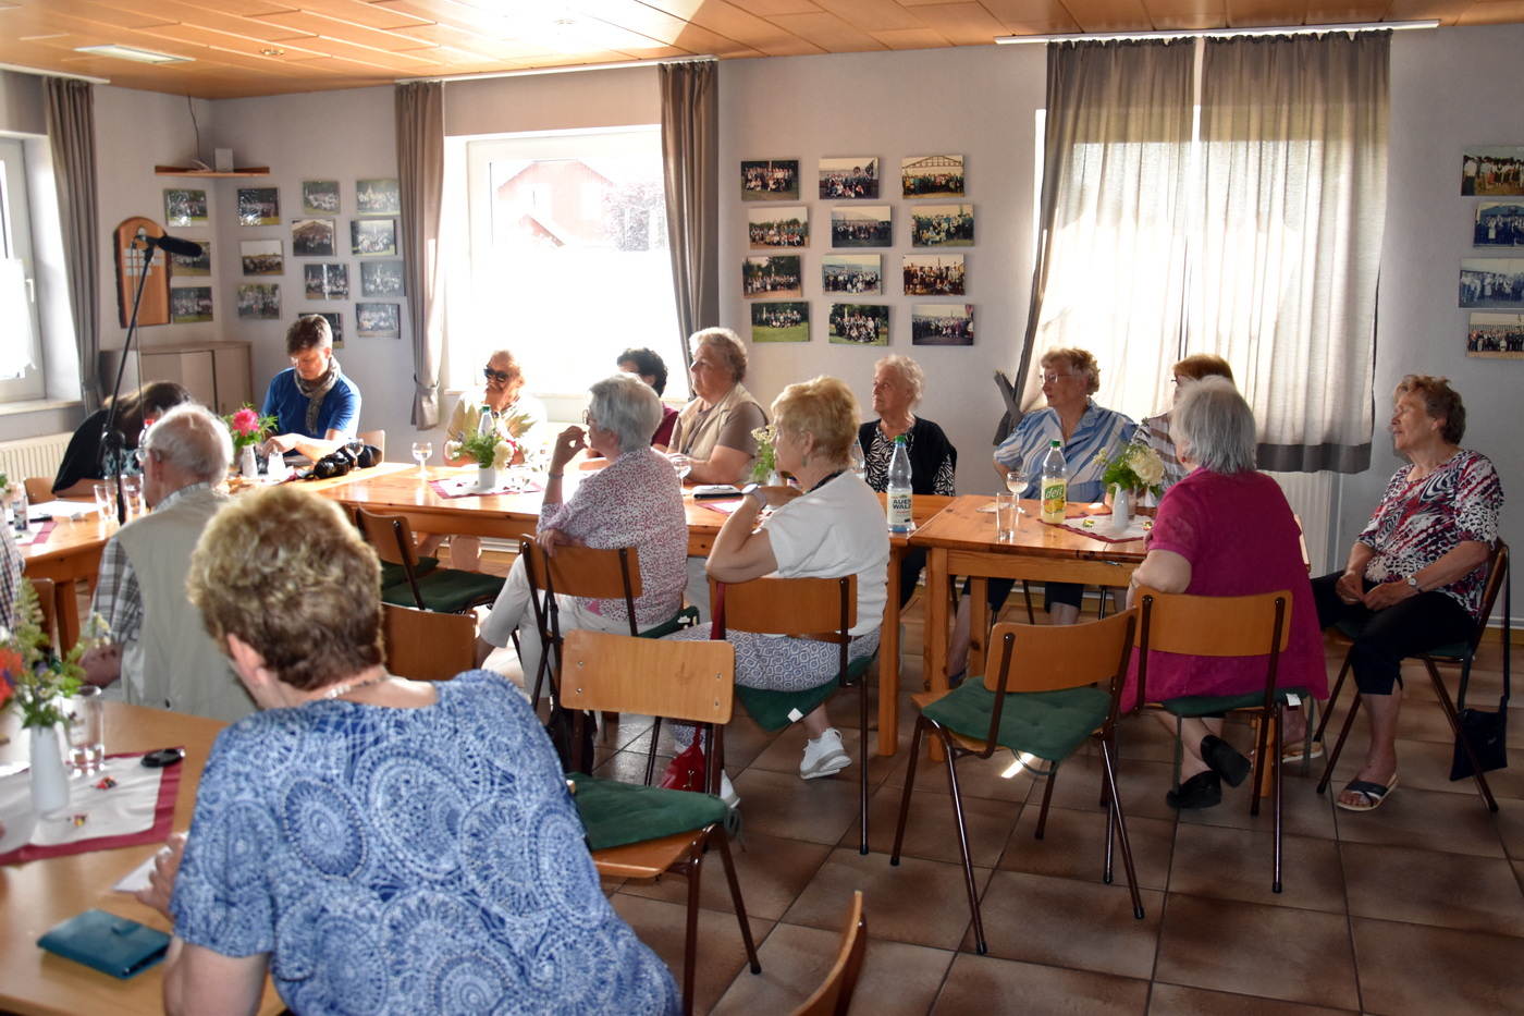
[[[942,741],[946,755],[948,786],[952,790],[952,812],[957,816],[959,848],[963,854],[963,885],[974,917],[974,941],[981,955],[986,950],[985,923],[978,912],[978,886],[974,882],[974,862],[963,824],[963,796],[957,783],[957,760],[966,755],[989,758],[1006,748],[1021,760],[1027,772],[1047,778],[1036,825],[1036,839],[1042,839],[1059,764],[1084,744],[1087,737],[1097,738],[1105,770],[1105,799],[1111,802],[1105,880],[1111,882],[1113,836],[1116,836],[1122,844],[1122,863],[1128,873],[1128,888],[1132,891],[1132,915],[1143,917],[1143,900],[1132,871],[1132,847],[1122,815],[1122,799],[1117,795],[1114,760],[1117,711],[1135,627],[1135,610],[1125,610],[1090,624],[997,624],[994,642],[998,662],[985,671],[983,680],[971,677],[949,691],[911,696],[920,715],[916,717],[916,734],[910,743],[910,769],[905,773],[899,825],[895,828],[895,850],[888,863],[899,863],[905,819],[910,815],[910,795],[916,784],[916,763],[920,758],[920,738],[933,734]],[[1027,763],[1029,758],[1047,764],[1035,767]]]

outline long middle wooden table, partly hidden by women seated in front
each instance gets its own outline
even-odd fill
[[[395,464],[387,464],[395,465]],[[381,467],[376,467],[379,470]],[[428,481],[418,477],[415,467],[402,470],[372,471],[341,487],[325,488],[322,493],[352,508],[369,508],[389,514],[407,516],[408,525],[419,532],[465,532],[471,535],[520,540],[535,532],[539,520],[539,493],[489,494],[485,497],[442,497]],[[465,468],[431,468],[430,479],[456,479],[474,474]],[[576,482],[585,471],[567,470],[565,497],[572,496]],[[882,494],[879,494],[882,500]],[[942,511],[952,497],[916,497],[914,519],[920,525]],[[725,514],[709,508],[692,496],[683,499],[687,514],[687,552],[690,557],[709,557],[715,534],[725,522]],[[893,755],[899,746],[899,558],[910,540],[905,535],[890,535],[888,601],[884,607],[884,627],[879,633],[879,699],[878,699],[878,754]]]

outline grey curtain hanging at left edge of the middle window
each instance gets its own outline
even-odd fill
[[[396,87],[396,175],[402,195],[402,268],[413,325],[413,426],[439,426],[443,293],[439,218],[445,197],[445,82]]]

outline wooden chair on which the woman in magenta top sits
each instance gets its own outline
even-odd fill
[[[1254,749],[1254,773],[1250,793],[1250,815],[1259,815],[1259,787],[1265,775],[1265,760],[1276,796],[1274,877],[1271,889],[1280,892],[1282,813],[1280,813],[1280,712],[1289,696],[1306,700],[1305,688],[1277,688],[1276,673],[1280,654],[1291,641],[1291,592],[1266,592],[1253,596],[1192,596],[1161,593],[1138,586],[1132,596],[1141,613],[1138,635],[1138,703],[1148,697],[1149,653],[1183,653],[1190,656],[1263,656],[1265,686],[1242,696],[1189,696],[1157,703],[1175,715],[1175,786],[1180,787],[1180,722],[1184,717],[1216,715],[1228,711],[1253,711],[1259,731]],[[1152,705],[1152,703],[1151,703]]]

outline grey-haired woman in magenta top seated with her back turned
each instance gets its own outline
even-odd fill
[[[1149,534],[1148,557],[1132,572],[1132,590],[1149,586],[1164,593],[1248,596],[1291,590],[1291,638],[1280,654],[1276,685],[1306,688],[1327,699],[1329,682],[1318,635],[1312,586],[1301,563],[1301,529],[1280,485],[1254,468],[1254,413],[1227,378],[1205,378],[1186,387],[1169,427],[1186,477],[1164,491]],[[1250,534],[1250,539],[1244,539]],[[1149,654],[1149,702],[1183,696],[1237,696],[1263,690],[1263,658]],[[1122,691],[1122,708],[1137,699],[1137,668]],[[1170,731],[1173,715],[1155,715]],[[1301,740],[1306,719],[1286,712],[1285,740]],[[1186,752],[1172,809],[1205,809],[1222,801],[1222,783],[1239,786],[1250,763],[1221,738],[1222,720],[1186,719]]]

